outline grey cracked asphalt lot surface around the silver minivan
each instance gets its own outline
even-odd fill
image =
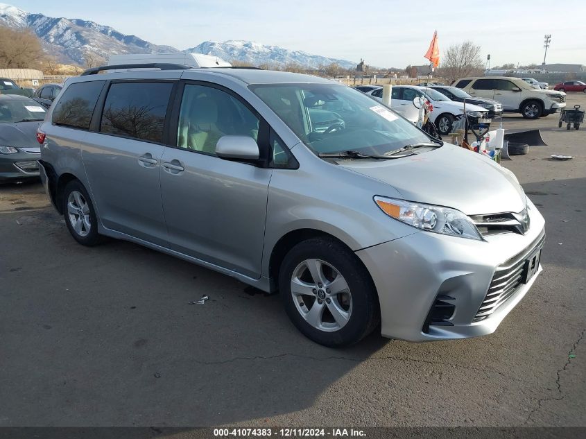
[[[557,122],[505,117],[549,144],[503,162],[546,218],[544,272],[495,334],[462,341],[327,349],[276,295],[131,243],[79,246],[40,184],[0,187],[0,427],[585,427],[586,126]]]

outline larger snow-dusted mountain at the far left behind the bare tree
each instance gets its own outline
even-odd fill
[[[84,64],[86,53],[107,60],[113,53],[178,51],[171,46],[157,46],[135,35],[124,35],[94,21],[31,14],[5,3],[0,3],[0,25],[31,28],[42,41],[43,49],[47,53],[68,64]]]

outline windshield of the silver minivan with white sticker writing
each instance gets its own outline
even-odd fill
[[[429,143],[424,132],[373,98],[345,85],[250,85],[315,153],[359,150],[385,155],[409,144]]]

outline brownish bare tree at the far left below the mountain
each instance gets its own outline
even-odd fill
[[[28,30],[0,26],[0,65],[7,69],[34,69],[44,61],[41,42]]]

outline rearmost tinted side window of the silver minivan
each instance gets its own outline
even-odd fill
[[[105,81],[90,81],[69,85],[53,110],[55,125],[89,129],[92,114]]]

